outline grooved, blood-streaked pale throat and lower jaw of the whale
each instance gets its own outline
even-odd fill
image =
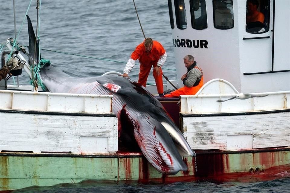
[[[155,119],[150,121],[137,119],[136,122],[140,125],[140,128],[135,129],[137,144],[156,170],[164,174],[176,174],[180,170],[188,170],[163,124]]]

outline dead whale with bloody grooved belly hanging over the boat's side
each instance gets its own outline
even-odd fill
[[[38,52],[34,54],[37,49],[32,45],[38,43],[35,34],[31,34],[34,31],[29,17],[27,20],[29,55],[36,62]],[[131,131],[128,136],[134,136],[143,155],[159,172],[176,174],[188,170],[182,156],[195,153],[161,103],[139,83],[115,74],[75,78],[52,65],[41,68],[40,78],[50,92],[113,95],[112,111],[118,118],[119,133]]]

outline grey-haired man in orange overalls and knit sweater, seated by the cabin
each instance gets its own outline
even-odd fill
[[[192,55],[186,55],[183,58],[184,66],[187,68],[187,73],[183,74],[181,80],[184,87],[181,87],[164,97],[179,97],[180,95],[195,95],[203,86],[203,76],[201,68],[194,61]]]

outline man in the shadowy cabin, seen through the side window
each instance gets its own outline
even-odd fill
[[[246,17],[247,29],[251,28],[262,29],[264,27],[265,16],[262,12],[259,12],[257,10],[258,7],[259,7],[258,0],[247,0],[247,10],[248,10]]]

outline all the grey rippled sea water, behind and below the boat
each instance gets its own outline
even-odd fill
[[[37,10],[33,0],[28,15],[36,31]],[[18,42],[28,45],[27,20],[24,17],[29,0],[15,0]],[[135,0],[146,37],[163,44],[167,61],[163,68],[170,80],[176,80],[172,35],[167,1]],[[0,0],[0,40],[14,37],[12,1]],[[134,48],[143,41],[143,34],[131,0],[42,0],[40,6],[40,48],[44,59],[76,77],[99,76],[108,71],[123,72]],[[25,20],[24,20],[25,18]],[[24,20],[21,28],[22,21]],[[64,53],[69,54],[64,54]],[[72,55],[74,54],[74,55]],[[88,57],[80,57],[89,56]],[[99,59],[96,59],[99,58]],[[106,60],[103,60],[106,59]],[[111,60],[111,61],[108,61]],[[139,66],[130,72],[137,80]],[[11,78],[12,79],[12,78]],[[9,80],[11,81],[11,80]],[[20,83],[28,82],[27,75]],[[154,83],[150,74],[147,83]],[[13,192],[290,192],[290,174],[263,182],[176,182],[171,184],[138,184],[83,181],[50,187],[30,187]]]

